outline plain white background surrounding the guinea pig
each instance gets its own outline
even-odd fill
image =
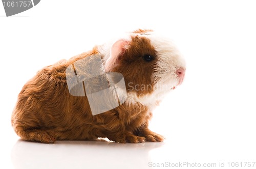
[[[256,161],[255,9],[255,1],[43,0],[6,17],[0,4],[0,167],[150,168],[148,162],[227,166]],[[151,129],[166,137],[164,143],[43,145],[19,140],[11,112],[37,70],[138,28],[172,38],[187,62],[183,85],[154,112]]]

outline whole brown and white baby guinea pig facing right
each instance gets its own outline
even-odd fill
[[[91,64],[96,58],[101,65]],[[90,103],[94,92],[85,90],[80,95],[80,88],[68,82],[73,76],[85,79],[77,73],[92,67],[103,72],[102,78],[73,83],[93,90],[101,86],[99,81],[106,81],[109,94],[97,97],[94,107]],[[72,77],[68,78],[68,70],[74,72]],[[12,127],[22,139],[41,143],[98,137],[118,143],[162,142],[164,137],[148,129],[148,123],[163,96],[181,85],[185,70],[185,61],[172,42],[152,30],[136,30],[39,70],[18,95]],[[118,81],[123,80],[124,88],[111,87],[111,76],[106,74],[114,72],[121,75]],[[101,106],[100,100],[112,102],[113,98],[117,104]],[[102,107],[102,112],[93,114],[95,107]]]

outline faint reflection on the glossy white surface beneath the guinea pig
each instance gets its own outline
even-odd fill
[[[164,143],[118,144],[101,141],[17,140],[11,153],[14,168],[147,168],[149,152]]]

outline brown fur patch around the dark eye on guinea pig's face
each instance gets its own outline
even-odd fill
[[[145,54],[156,56],[156,51],[151,45],[150,40],[146,38],[139,38],[138,36],[132,37],[132,42],[130,44],[132,47],[126,50],[122,56],[121,65],[113,69],[113,72],[120,72],[125,77],[126,89],[131,90],[135,88],[134,85],[148,85],[150,84],[152,88],[148,90],[139,90],[137,94],[152,93],[154,88],[154,83],[152,81],[151,75],[154,73],[154,63],[145,62],[143,56]],[[139,73],[138,73],[139,72]],[[130,82],[130,85],[127,84]],[[131,83],[132,82],[132,83]]]

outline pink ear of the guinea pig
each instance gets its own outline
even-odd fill
[[[110,50],[110,57],[105,62],[105,71],[110,72],[114,67],[120,64],[120,60],[129,48],[129,40],[121,39],[116,41]]]

